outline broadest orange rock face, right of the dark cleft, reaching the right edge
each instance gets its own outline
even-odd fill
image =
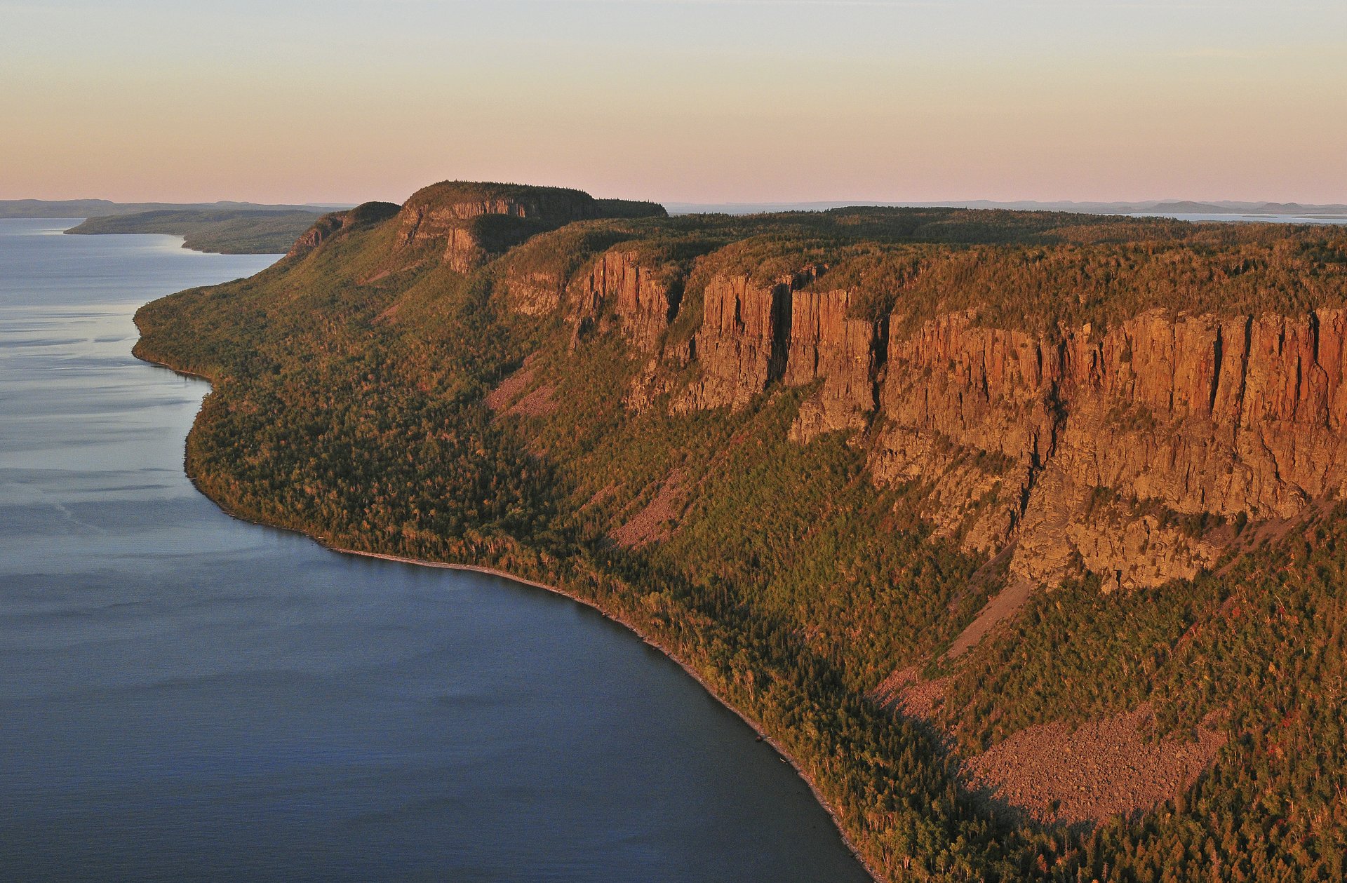
[[[1342,490],[1344,330],[1340,310],[1150,311],[1049,343],[944,316],[890,343],[874,474],[928,482],[966,545],[1017,537],[1020,576],[1192,576],[1219,549],[1181,516],[1288,518]]]

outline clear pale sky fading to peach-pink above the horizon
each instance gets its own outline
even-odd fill
[[[0,0],[0,199],[1347,202],[1347,1]]]

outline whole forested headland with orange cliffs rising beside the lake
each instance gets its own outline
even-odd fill
[[[1328,227],[446,182],[136,320],[222,506],[594,602],[882,879],[1336,882],[1344,296]]]

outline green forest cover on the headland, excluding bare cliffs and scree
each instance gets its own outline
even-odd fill
[[[913,256],[939,273],[958,269],[975,249],[971,267],[935,279],[982,273],[955,296],[981,291],[986,302],[987,280],[997,281],[1037,304],[1020,311],[1022,322],[1047,324],[1061,311],[1107,319],[1164,296],[1161,283],[1210,280],[1214,268],[1230,276],[1227,258],[1241,252],[1269,256],[1272,280],[1249,285],[1237,275],[1242,303],[1269,302],[1293,276],[1336,272],[1343,253],[1296,232],[1272,241],[1212,230],[1180,248],[1168,222],[1071,223],[1083,233],[1004,213],[854,213],[806,218],[803,230],[791,218],[601,222],[547,234],[506,260],[546,262],[528,254],[539,244],[630,238],[696,254],[750,233],[727,260],[770,267],[773,256],[831,249],[843,256],[839,272],[850,265],[873,280]],[[901,491],[865,481],[863,437],[787,443],[799,392],[733,416],[629,413],[620,397],[641,365],[616,332],[571,350],[558,318],[504,311],[498,267],[467,277],[428,262],[396,271],[387,265],[392,234],[391,225],[361,232],[137,315],[140,355],[216,380],[189,437],[189,468],[228,509],[335,545],[501,567],[594,600],[761,721],[892,879],[1342,879],[1340,517],[1258,551],[1230,577],[1040,596],[1014,629],[983,642],[951,688],[948,713],[964,723],[966,748],[1146,696],[1162,726],[1177,728],[1235,697],[1230,747],[1177,805],[1092,833],[1008,828],[960,790],[956,758],[865,699],[889,670],[958,634],[986,595],[963,591],[982,561],[932,541]],[[905,244],[913,236],[928,244]],[[1057,245],[1068,236],[1075,242]],[[954,245],[929,245],[939,238]],[[901,253],[876,262],[876,242]],[[1121,265],[1137,284],[1098,283],[1098,299],[1044,303],[1063,275],[1096,283],[1105,258],[1111,279]],[[929,281],[881,295],[931,310]],[[1297,291],[1332,295],[1316,284]],[[690,281],[690,304],[695,293]],[[1005,297],[983,306],[1014,311]],[[562,407],[493,420],[484,393],[531,353],[535,382],[554,385]],[[607,542],[674,472],[690,497],[679,530],[643,551]],[[1242,599],[1239,615],[1231,598]]]

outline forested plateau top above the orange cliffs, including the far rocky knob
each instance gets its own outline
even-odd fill
[[[461,180],[423,187],[399,214],[396,248],[415,249],[416,261],[445,254],[467,269],[509,252],[516,272],[568,279],[620,245],[686,279],[694,302],[713,275],[768,284],[811,268],[810,287],[850,291],[855,316],[911,324],[971,311],[978,323],[1049,335],[1156,307],[1303,315],[1340,306],[1347,279],[1347,234],[1331,226],[863,206],[668,217],[572,188]]]

